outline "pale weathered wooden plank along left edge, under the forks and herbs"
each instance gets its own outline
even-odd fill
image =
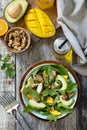
[[[4,7],[10,0],[0,1],[0,17],[3,15]],[[0,54],[5,56],[8,52],[3,42],[0,40]],[[14,56],[12,56],[13,60]],[[11,84],[8,84],[7,81],[10,81]],[[15,96],[15,79],[9,79],[3,71],[0,71],[0,93],[3,91],[11,91],[13,96]],[[15,122],[11,115],[8,115],[3,107],[0,105],[0,130],[14,130]]]

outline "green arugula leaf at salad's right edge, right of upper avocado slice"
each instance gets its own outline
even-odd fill
[[[72,83],[72,81],[68,81],[67,82],[67,89],[66,89],[66,92],[75,92],[77,91],[77,83]]]

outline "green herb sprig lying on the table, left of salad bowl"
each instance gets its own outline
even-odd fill
[[[6,75],[9,78],[14,78],[15,77],[15,64],[13,61],[11,61],[11,55],[6,55],[4,58],[2,57],[2,55],[0,54],[0,62],[1,62],[1,66],[0,69],[4,70]]]

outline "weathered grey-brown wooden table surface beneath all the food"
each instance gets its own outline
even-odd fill
[[[4,7],[10,0],[0,1],[0,16],[3,15]],[[32,37],[29,49],[21,54],[13,54],[12,58],[16,64],[16,77],[9,79],[3,71],[0,70],[0,92],[11,91],[15,99],[20,104],[19,110],[23,112],[23,106],[18,95],[18,86],[20,78],[24,71],[33,63],[40,60],[58,60],[52,52],[51,43],[62,35],[61,28],[57,29],[56,35],[48,39],[38,39]],[[0,40],[0,54],[3,56],[9,53]],[[19,69],[21,68],[21,69]],[[56,122],[46,122],[33,117],[30,114],[24,114],[23,117],[30,124],[32,130],[86,130],[87,129],[87,78],[77,75],[81,88],[80,99],[76,109],[68,117]],[[8,84],[7,81],[11,83]],[[0,130],[21,130],[11,115],[8,115],[0,105]],[[26,128],[24,130],[29,130]]]

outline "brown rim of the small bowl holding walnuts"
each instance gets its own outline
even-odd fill
[[[16,29],[17,29],[17,30],[23,30],[23,31],[26,33],[27,38],[28,38],[28,42],[27,42],[26,47],[25,47],[24,49],[22,49],[21,51],[17,51],[16,49],[13,49],[13,48],[9,47],[9,46],[7,45],[7,43],[6,43],[8,34],[9,34],[10,32],[13,32],[13,31],[16,30]],[[28,32],[28,30],[25,29],[25,28],[23,28],[23,27],[19,27],[19,26],[10,28],[10,29],[7,31],[7,33],[5,34],[5,36],[4,36],[4,44],[6,45],[6,47],[7,47],[11,52],[14,52],[14,53],[24,52],[26,49],[28,49],[28,47],[29,47],[29,45],[30,45],[30,41],[31,41],[31,37],[30,37],[30,33]]]

